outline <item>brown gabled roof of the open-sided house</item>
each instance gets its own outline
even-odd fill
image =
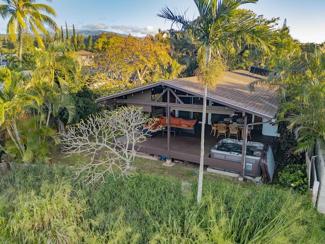
[[[214,90],[208,89],[207,99],[224,106],[271,119],[276,115],[279,106],[275,90],[262,86],[256,86],[255,92],[249,92],[248,90],[248,85],[260,78],[262,78],[262,76],[251,76],[248,71],[244,70],[225,72],[223,80],[217,84],[216,88]],[[203,98],[203,88],[200,87],[197,77],[193,76],[159,81],[126,90],[122,93],[99,98],[96,99],[96,102],[114,99],[160,85],[169,86],[188,93],[189,95]]]

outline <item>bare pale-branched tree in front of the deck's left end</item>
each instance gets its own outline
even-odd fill
[[[114,178],[128,177],[135,168],[138,143],[146,140],[146,133],[160,130],[155,118],[149,118],[141,107],[120,107],[103,114],[89,115],[87,120],[70,125],[62,135],[62,153],[91,156],[91,162],[82,162],[77,177],[85,175],[86,184],[102,180],[111,173]],[[142,125],[146,124],[146,130]]]

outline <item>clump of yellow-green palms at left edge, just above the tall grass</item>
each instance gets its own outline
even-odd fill
[[[45,161],[49,155],[49,138],[58,143],[54,131],[41,125],[40,116],[26,119],[25,112],[38,110],[43,99],[36,92],[29,78],[7,68],[1,73],[3,90],[0,90],[0,126],[7,131],[10,139],[2,147],[7,155],[21,159],[24,163],[35,160]],[[40,125],[39,125],[40,124]]]

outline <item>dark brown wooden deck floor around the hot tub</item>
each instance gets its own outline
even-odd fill
[[[217,141],[223,136],[210,135],[211,126],[206,126],[205,132],[205,152],[204,152],[204,164],[220,169],[224,169],[231,172],[239,173],[242,170],[240,163],[228,162],[224,160],[218,160],[210,158],[210,150],[217,143]],[[269,143],[275,154],[278,146],[278,138],[271,136],[263,136],[261,132],[252,130],[252,141]],[[231,137],[234,138],[234,137]],[[192,163],[200,163],[200,148],[201,148],[201,127],[198,132],[193,134],[188,133],[176,133],[171,134],[170,137],[170,150],[167,150],[167,132],[159,133],[152,138],[148,138],[146,141],[140,144],[139,151],[150,155],[165,156],[167,158],[177,159],[181,161],[187,161]]]

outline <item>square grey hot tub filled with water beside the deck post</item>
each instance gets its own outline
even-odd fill
[[[243,142],[224,138],[211,148],[211,158],[241,163]],[[259,160],[263,153],[263,143],[248,141],[246,144],[245,175],[258,177],[262,174]]]

